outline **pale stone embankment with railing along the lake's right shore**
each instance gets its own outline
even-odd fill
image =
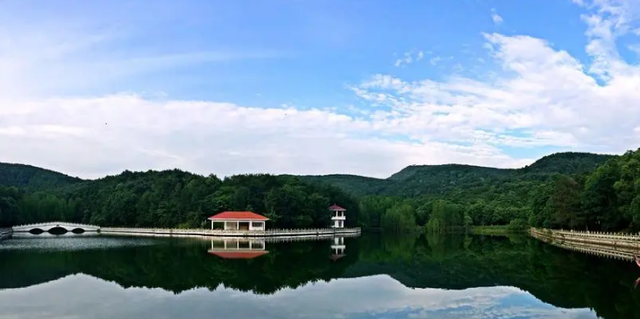
[[[633,260],[640,255],[640,234],[531,228],[529,234],[551,245],[582,253]]]

